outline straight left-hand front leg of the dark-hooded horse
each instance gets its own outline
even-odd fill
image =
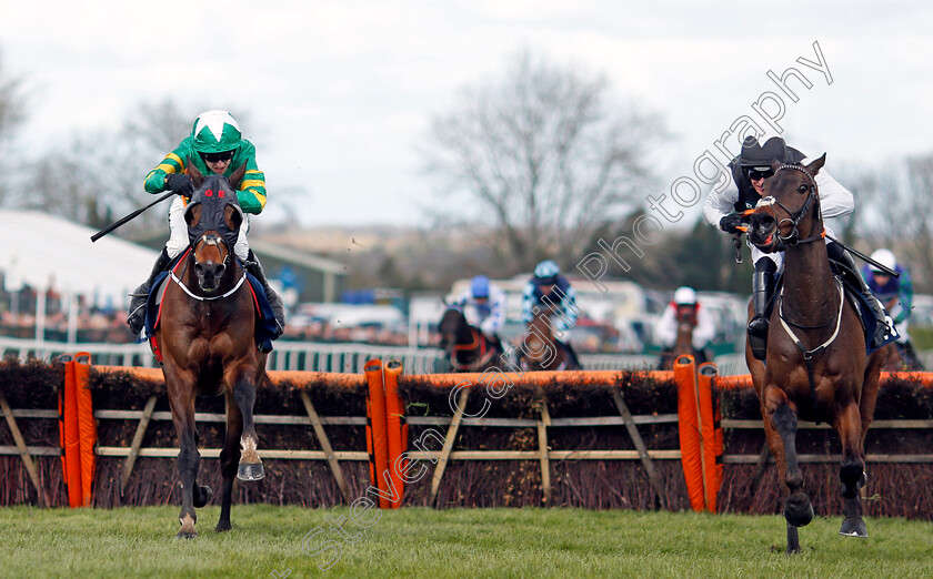
[[[198,468],[201,464],[201,455],[198,453],[198,440],[194,431],[194,394],[190,388],[169,387],[169,403],[172,408],[172,421],[178,435],[178,471],[181,478],[181,512],[178,516],[181,522],[181,530],[175,535],[179,539],[193,539],[198,536],[194,524],[198,516],[194,514],[195,499],[200,498],[198,492],[197,478]]]

